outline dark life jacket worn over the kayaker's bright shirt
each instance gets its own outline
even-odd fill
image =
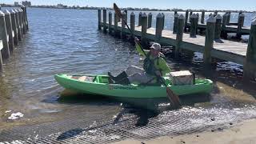
[[[159,53],[160,55],[157,58],[150,59],[150,54],[151,52],[146,54],[146,58],[144,59],[144,63],[143,63],[143,69],[146,71],[146,74],[155,75],[155,71],[157,69],[154,66],[154,62],[158,61],[157,65],[159,65],[159,58],[164,58],[166,60],[166,57],[164,54]],[[160,71],[162,72],[162,70]]]

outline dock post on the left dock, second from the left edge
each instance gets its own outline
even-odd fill
[[[8,10],[4,10],[4,14],[5,14],[5,20],[6,20],[6,30],[9,36],[9,39],[8,39],[9,50],[10,50],[10,53],[12,53],[14,51],[14,34],[13,34],[12,22],[10,19],[10,12]]]

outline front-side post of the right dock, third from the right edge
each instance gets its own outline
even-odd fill
[[[184,25],[185,25],[185,18],[181,14],[178,16],[178,24],[177,24],[177,35],[176,35],[176,46],[175,46],[175,58],[179,58],[179,51],[180,51],[180,45],[182,43],[182,38],[183,38],[183,30],[184,30]]]

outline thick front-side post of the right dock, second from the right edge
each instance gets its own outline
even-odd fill
[[[210,51],[214,46],[214,29],[215,29],[216,19],[214,15],[211,15],[210,18],[206,21],[206,41],[205,41],[205,51],[203,53],[203,62],[205,66],[210,65],[211,63],[211,54]]]

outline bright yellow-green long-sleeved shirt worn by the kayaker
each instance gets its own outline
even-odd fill
[[[136,49],[138,50],[138,53],[141,54],[143,57],[146,57],[146,55],[143,53],[142,48],[138,46],[136,43]],[[144,50],[146,54],[150,52],[150,50]],[[160,70],[162,72],[162,76],[165,76],[166,74],[170,73],[170,67],[167,65],[166,60],[164,58],[153,58],[152,55],[150,55],[150,59],[154,59],[154,67],[157,70]]]

